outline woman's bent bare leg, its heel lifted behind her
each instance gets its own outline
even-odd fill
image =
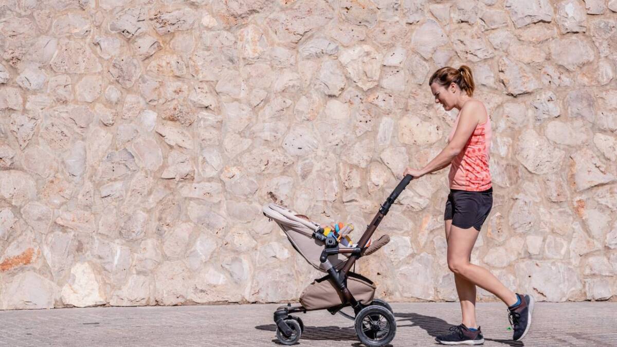
[[[499,282],[497,277],[491,274],[489,270],[471,264],[471,249],[473,249],[473,245],[476,243],[476,238],[478,238],[478,230],[473,227],[468,229],[462,229],[455,225],[450,227],[448,235],[448,267],[455,275],[459,275],[468,282],[491,292],[507,306],[515,304],[518,298],[513,291]],[[461,306],[463,307],[463,298],[461,298]]]

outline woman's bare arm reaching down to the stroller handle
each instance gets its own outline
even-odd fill
[[[450,165],[452,159],[465,148],[465,144],[469,141],[471,134],[473,134],[473,131],[476,129],[479,112],[486,112],[481,102],[476,100],[466,102],[465,107],[461,110],[460,119],[458,119],[458,125],[452,136],[452,141],[450,141],[432,161],[426,164],[423,169],[407,169],[404,175],[410,174],[416,178],[422,177]]]

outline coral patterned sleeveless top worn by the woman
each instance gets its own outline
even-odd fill
[[[452,141],[459,119],[460,112],[448,136],[448,142]],[[491,119],[487,115],[486,122],[476,125],[463,150],[452,160],[448,175],[450,189],[484,191],[491,188],[491,135]]]

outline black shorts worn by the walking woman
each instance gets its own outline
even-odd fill
[[[451,189],[445,203],[444,220],[462,229],[474,227],[480,231],[493,206],[493,188],[484,191]]]

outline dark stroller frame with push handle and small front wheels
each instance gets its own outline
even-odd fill
[[[334,284],[334,287],[339,292],[339,295],[342,295],[342,299],[344,299],[341,305],[326,308],[331,314],[336,314],[337,312],[341,311],[342,308],[351,306],[354,309],[355,316],[357,317],[358,313],[362,311],[363,308],[371,305],[371,304],[368,304],[368,305],[362,304],[360,303],[360,301],[354,298],[354,295],[352,295],[352,293],[347,288],[347,278],[350,277],[350,274],[351,274],[351,276],[354,276],[354,277],[359,276],[363,280],[368,280],[368,278],[365,278],[358,274],[350,272],[350,269],[355,264],[355,261],[360,259],[360,257],[375,252],[377,249],[381,248],[381,246],[386,245],[387,241],[389,241],[389,236],[384,235],[382,236],[382,238],[384,237],[387,238],[385,242],[378,241],[376,243],[373,243],[371,246],[366,247],[366,243],[368,243],[368,240],[370,240],[371,236],[373,236],[373,233],[375,233],[375,230],[379,226],[379,223],[381,222],[381,220],[383,220],[383,218],[387,215],[387,213],[390,210],[390,207],[392,206],[392,204],[394,204],[394,201],[399,197],[399,194],[405,190],[405,188],[407,187],[409,182],[411,182],[412,179],[413,179],[412,175],[407,175],[399,182],[396,188],[394,188],[394,191],[392,191],[392,193],[388,196],[386,201],[383,204],[381,204],[379,211],[377,212],[377,214],[375,214],[375,217],[373,217],[373,220],[371,221],[371,223],[366,226],[365,232],[362,234],[360,241],[358,241],[357,245],[354,248],[339,248],[337,244],[332,244],[331,242],[329,243],[328,242],[329,240],[326,238],[326,236],[323,235],[323,229],[321,228],[313,232],[313,238],[316,238],[317,240],[320,240],[320,241],[326,241],[325,248],[321,252],[321,256],[320,256],[320,261],[322,263],[325,263],[327,265],[329,263],[328,256],[331,254],[349,254],[349,258],[347,259],[347,261],[344,262],[344,265],[342,266],[340,270],[337,270],[336,267],[334,266],[329,266],[329,268],[327,269],[328,275],[326,275],[325,279],[331,280],[331,282]],[[370,280],[368,280],[368,282],[370,282]],[[389,309],[389,311],[391,311],[391,308],[389,307],[389,305],[385,303],[384,301],[379,300],[379,299],[375,299],[374,302],[375,301],[376,301],[375,304],[386,307],[387,309]],[[297,312],[306,313],[307,311],[318,311],[318,310],[319,309],[315,309],[315,310],[306,309],[302,305],[291,306],[291,304],[288,304],[287,306],[278,307],[278,309],[274,312],[274,321],[276,323],[276,326],[278,327],[278,330],[280,330],[283,336],[290,337],[292,333],[294,332],[292,331],[291,327],[289,327],[286,320],[289,320],[290,318],[299,320],[297,317],[289,316],[290,314],[297,313]],[[355,319],[355,317],[349,316],[348,314],[345,314],[342,311],[340,313],[349,319]],[[302,326],[303,324],[301,323],[302,321],[299,320],[299,322],[300,322],[300,326],[304,328]]]

